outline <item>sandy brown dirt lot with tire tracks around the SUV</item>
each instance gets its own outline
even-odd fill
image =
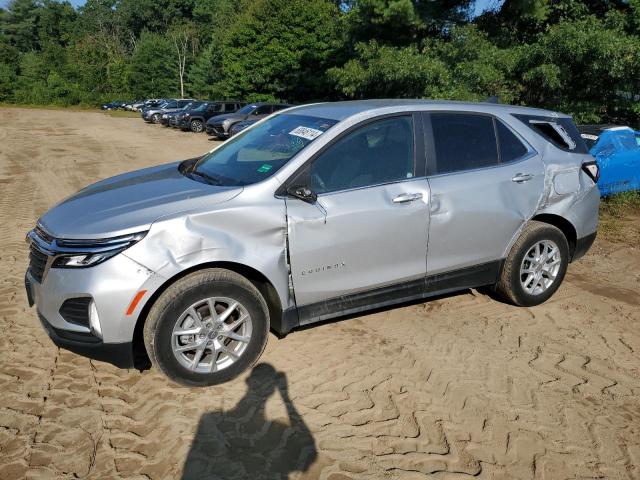
[[[545,305],[467,291],[271,336],[250,376],[186,389],[55,348],[24,235],[88,183],[213,144],[101,113],[0,118],[1,479],[640,478],[640,218]]]

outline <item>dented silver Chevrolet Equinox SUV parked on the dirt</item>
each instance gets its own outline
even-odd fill
[[[595,238],[597,178],[555,112],[294,107],[48,211],[28,234],[28,298],[61,347],[217,384],[269,329],[480,286],[544,302]]]

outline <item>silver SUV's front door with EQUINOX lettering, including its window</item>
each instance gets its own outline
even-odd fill
[[[356,128],[296,179],[313,193],[286,199],[301,323],[355,311],[360,295],[372,305],[412,282],[422,288],[429,186],[416,168],[413,124],[402,115]]]

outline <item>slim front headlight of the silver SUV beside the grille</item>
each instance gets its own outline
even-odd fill
[[[147,232],[101,240],[56,239],[54,268],[85,268],[98,265],[144,238]]]

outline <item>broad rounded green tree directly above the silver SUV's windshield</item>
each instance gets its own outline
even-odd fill
[[[329,95],[326,70],[342,46],[340,11],[324,0],[258,0],[220,45],[223,96],[309,101]]]

